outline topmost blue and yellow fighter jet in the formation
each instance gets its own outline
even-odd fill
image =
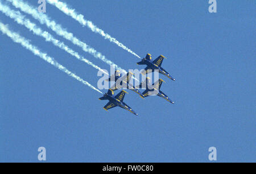
[[[167,76],[171,80],[175,81],[175,78],[173,78],[166,70],[164,70],[161,67],[163,63],[163,59],[166,59],[166,57],[164,57],[163,55],[160,55],[158,58],[156,58],[153,61],[151,55],[147,54],[146,57],[142,59],[142,61],[137,63],[137,65],[147,65],[147,67],[142,71],[142,74],[146,74],[150,71],[154,72],[158,70],[159,73],[164,74],[164,76]]]

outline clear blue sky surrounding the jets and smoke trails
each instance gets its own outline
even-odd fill
[[[139,117],[119,108],[106,112],[100,93],[1,34],[0,161],[36,162],[44,146],[48,162],[207,162],[214,146],[217,161],[255,162],[255,1],[217,1],[216,14],[205,0],[68,3],[139,56],[166,56],[163,68],[177,81],[162,76],[162,90],[175,105],[128,91],[125,102]],[[49,4],[47,15],[121,67],[141,68],[137,57]],[[0,19],[97,86],[96,69],[2,13]]]

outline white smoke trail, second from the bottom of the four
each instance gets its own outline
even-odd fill
[[[93,68],[96,68],[105,74],[108,74],[103,69],[98,67],[97,65],[94,65],[89,60],[85,59],[84,57],[80,56],[79,53],[73,51],[71,48],[68,47],[68,45],[65,45],[63,42],[60,42],[59,40],[55,39],[51,34],[49,34],[47,31],[43,31],[41,28],[36,26],[35,23],[30,22],[29,19],[26,18],[26,16],[20,14],[19,11],[11,10],[9,6],[2,5],[0,0],[0,11],[2,11],[3,14],[6,16],[9,16],[11,19],[14,19],[15,22],[18,24],[22,24],[23,26],[27,27],[30,31],[34,32],[35,35],[42,36],[44,39],[46,39],[47,42],[51,42],[57,47],[64,49],[67,53],[69,53],[72,56],[75,56],[77,59],[84,61],[88,65],[91,65]]]

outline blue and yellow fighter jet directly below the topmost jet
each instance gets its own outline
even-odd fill
[[[156,81],[154,84],[151,85],[150,82],[150,78],[147,77],[146,80],[144,82],[141,82],[140,85],[137,86],[137,88],[146,88],[146,90],[144,90],[143,97],[148,97],[148,96],[159,96],[164,98],[165,100],[167,100],[168,102],[174,104],[173,101],[170,100],[170,98],[168,96],[166,96],[166,94],[164,94],[160,88],[162,86],[162,83],[164,81],[162,79],[159,78],[158,81]]]

